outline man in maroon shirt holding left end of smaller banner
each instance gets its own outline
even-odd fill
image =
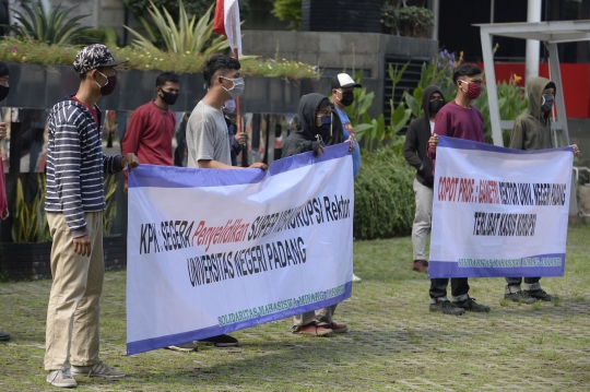
[[[457,96],[438,110],[435,119],[436,130],[428,140],[426,155],[433,159],[435,169],[437,135],[485,142],[483,116],[471,105],[482,92],[482,70],[473,64],[459,66],[452,73],[452,81],[457,85]],[[475,302],[475,299],[469,296],[467,277],[451,278],[452,302],[447,299],[448,284],[448,277],[430,280],[430,311],[440,311],[445,314],[462,314],[465,310],[489,311],[489,307]]]

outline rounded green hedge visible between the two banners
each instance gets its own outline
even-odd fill
[[[364,154],[354,182],[355,239],[389,238],[412,233],[415,169],[394,147]]]

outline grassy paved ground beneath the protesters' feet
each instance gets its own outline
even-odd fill
[[[107,273],[102,358],[119,381],[78,377],[80,391],[589,391],[590,226],[570,226],[566,274],[544,278],[559,301],[507,302],[504,278],[470,280],[487,314],[428,312],[429,281],[411,271],[409,237],[355,242],[353,296],[333,337],[290,333],[285,319],[233,335],[240,347],[126,353],[126,273]],[[45,382],[50,281],[1,283],[0,391],[58,390]],[[450,290],[450,287],[449,287]],[[450,293],[449,293],[450,294]]]

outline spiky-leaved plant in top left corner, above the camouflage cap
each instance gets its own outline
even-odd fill
[[[49,12],[45,12],[40,0],[31,2],[22,0],[21,5],[24,12],[12,9],[14,17],[20,24],[3,25],[17,37],[36,39],[47,44],[92,44],[96,39],[84,36],[83,33],[91,27],[82,26],[78,21],[90,16],[79,15],[68,19],[70,12],[78,7],[72,5],[60,10],[61,4]]]

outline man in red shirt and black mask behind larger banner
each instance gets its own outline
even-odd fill
[[[155,99],[131,115],[122,140],[122,152],[134,153],[144,164],[174,166],[172,141],[176,116],[169,106],[176,103],[180,92],[178,75],[161,73],[156,78],[155,90]]]

